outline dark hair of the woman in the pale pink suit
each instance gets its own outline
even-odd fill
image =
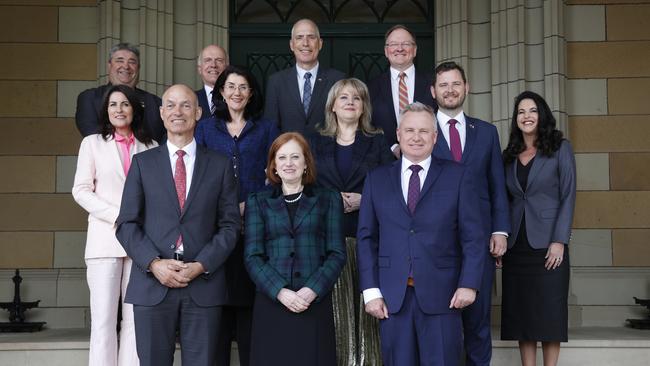
[[[129,104],[131,104],[131,108],[133,108],[133,120],[131,121],[131,131],[133,131],[133,136],[145,145],[151,145],[151,135],[144,123],[144,105],[142,100],[140,100],[140,97],[136,94],[135,89],[128,85],[111,85],[104,94],[102,109],[99,112],[100,133],[104,141],[108,141],[108,139],[112,138],[115,134],[115,127],[111,124],[111,121],[108,118],[108,101],[111,94],[115,92],[124,94],[126,99],[128,99]]]

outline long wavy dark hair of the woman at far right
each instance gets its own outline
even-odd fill
[[[531,99],[537,106],[537,138],[535,139],[535,147],[537,150],[544,156],[551,156],[560,148],[564,139],[562,131],[555,128],[555,117],[553,117],[551,108],[549,108],[544,98],[535,92],[526,90],[515,98],[508,147],[503,150],[503,162],[505,164],[510,164],[515,161],[517,156],[526,149],[524,136],[517,126],[519,103],[524,99]]]

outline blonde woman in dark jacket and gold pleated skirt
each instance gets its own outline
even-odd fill
[[[376,320],[363,311],[356,268],[356,231],[366,174],[395,160],[380,129],[370,124],[368,88],[359,79],[336,82],[325,104],[325,122],[310,136],[317,182],[341,192],[348,262],[334,288],[339,366],[380,362]],[[355,314],[356,312],[356,314]]]

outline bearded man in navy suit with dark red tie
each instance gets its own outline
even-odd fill
[[[436,117],[441,136],[433,155],[463,164],[474,176],[485,232],[482,245],[486,254],[483,281],[476,302],[463,310],[466,365],[488,366],[492,357],[490,306],[495,266],[493,257],[501,257],[506,251],[510,217],[497,129],[488,122],[463,113],[463,103],[468,93],[469,86],[461,66],[455,62],[444,62],[436,67],[431,94],[439,108]]]

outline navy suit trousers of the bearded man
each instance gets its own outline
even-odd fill
[[[492,331],[490,307],[494,282],[494,258],[485,256],[483,280],[476,293],[476,301],[463,309],[466,366],[490,366],[492,359]]]

